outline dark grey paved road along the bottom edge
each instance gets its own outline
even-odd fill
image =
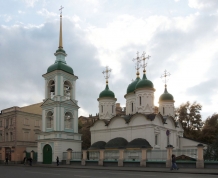
[[[217,178],[217,175],[0,166],[1,178]]]

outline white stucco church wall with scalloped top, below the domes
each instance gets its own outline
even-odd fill
[[[168,119],[167,124],[163,124],[159,115],[151,121],[142,114],[134,115],[129,123],[122,117],[114,117],[108,126],[102,120],[97,121],[91,128],[91,144],[97,141],[105,141],[122,137],[128,142],[136,138],[146,139],[154,149],[166,149],[167,136],[166,131],[170,131],[169,144],[179,148],[177,139],[179,133],[183,133],[182,127],[176,128],[172,118]],[[158,135],[158,144],[155,145],[155,135]],[[182,144],[180,144],[182,145]]]

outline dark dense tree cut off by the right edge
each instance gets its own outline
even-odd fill
[[[218,114],[213,114],[204,122],[201,132],[201,141],[212,144],[218,135]]]

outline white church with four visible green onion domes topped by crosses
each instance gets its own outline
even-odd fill
[[[139,73],[140,59],[144,68],[142,78]],[[198,142],[183,138],[182,125],[175,118],[175,100],[166,83],[159,97],[159,106],[154,106],[155,88],[146,76],[146,59],[144,54],[136,58],[136,79],[128,85],[124,95],[126,115],[116,115],[114,107],[117,99],[108,84],[110,70],[106,68],[103,72],[106,73],[106,87],[98,98],[99,120],[90,128],[90,151],[120,148],[165,150],[169,145],[174,149],[196,149]],[[166,71],[164,77],[167,77]]]

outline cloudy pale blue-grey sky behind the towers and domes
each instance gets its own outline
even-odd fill
[[[217,112],[217,0],[0,0],[0,110],[44,99],[42,74],[55,61],[61,5],[66,61],[79,77],[79,115],[98,112],[107,65],[109,87],[125,106],[137,51],[151,56],[155,105],[167,70],[176,107],[197,101],[203,119]]]

